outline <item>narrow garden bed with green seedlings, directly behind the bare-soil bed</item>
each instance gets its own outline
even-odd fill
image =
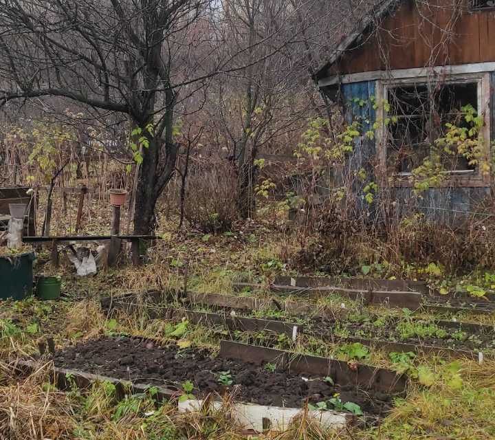
[[[209,307],[217,298],[203,296]],[[296,339],[298,333],[305,333],[331,342],[360,342],[371,347],[379,347],[386,351],[413,351],[424,353],[442,353],[448,355],[479,358],[479,353],[490,356],[495,352],[495,329],[489,325],[471,322],[420,320],[406,317],[375,316],[363,314],[354,316],[353,320],[336,320],[329,316],[316,315],[309,318],[287,317],[284,313],[270,313],[270,320],[239,316],[232,311],[225,312],[228,298],[234,306],[237,298],[225,296],[219,300],[220,306],[210,311],[193,311],[176,309],[171,306],[150,305],[145,307],[148,315],[155,318],[173,316],[186,317],[190,322],[203,325],[222,325],[235,331],[268,331],[285,333]],[[195,294],[196,303],[201,303],[201,294]],[[107,304],[108,301],[102,301]],[[107,304],[108,305],[108,304]],[[136,307],[136,297],[114,298],[110,311],[122,309],[132,312]],[[239,313],[248,310],[237,309]],[[151,313],[150,313],[151,312]],[[263,311],[257,316],[263,316]],[[351,318],[351,316],[349,316]],[[292,319],[293,322],[285,320]],[[269,336],[269,333],[267,334]]]

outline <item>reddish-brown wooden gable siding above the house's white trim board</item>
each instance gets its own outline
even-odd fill
[[[405,0],[364,41],[320,78],[495,61],[495,10],[461,12],[450,0]]]

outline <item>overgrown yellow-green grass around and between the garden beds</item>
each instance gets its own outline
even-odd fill
[[[260,230],[262,228],[259,228]],[[268,230],[268,228],[267,228]],[[252,234],[248,232],[246,235]],[[239,235],[240,236],[240,235]],[[256,239],[256,240],[255,240]],[[300,338],[296,344],[289,337],[269,336],[267,333],[229,332],[221,327],[206,328],[187,325],[180,336],[170,336],[171,322],[151,319],[144,313],[107,316],[99,307],[98,298],[123,292],[145,289],[182,288],[188,290],[232,294],[233,285],[248,281],[267,286],[276,274],[294,274],[288,262],[289,254],[300,242],[287,234],[256,232],[255,239],[239,239],[218,235],[203,239],[203,234],[168,234],[150,252],[143,267],[123,267],[100,272],[92,278],[75,278],[72,269],[63,268],[65,293],[68,300],[41,303],[29,299],[0,305],[0,356],[2,360],[36,353],[39,338],[53,336],[61,348],[78,340],[97,338],[104,334],[127,333],[157,338],[163,342],[187,340],[194,346],[208,347],[215,353],[221,338],[244,342],[270,344],[296,353],[308,353],[341,360],[355,360],[393,369],[403,369],[391,360],[388,353],[375,347],[353,351],[345,344],[331,344],[318,338]],[[288,252],[287,250],[290,250]],[[287,252],[287,253],[286,253]],[[405,273],[405,272],[404,272]],[[386,274],[385,274],[386,275]],[[380,274],[380,276],[384,276]],[[435,275],[447,278],[445,270]],[[483,277],[482,277],[483,278]],[[467,277],[465,283],[481,283],[479,273]],[[483,278],[484,279],[484,278]],[[452,278],[451,285],[456,283]],[[439,283],[440,285],[441,283]],[[267,289],[259,292],[241,292],[259,298],[271,296]],[[281,296],[297,300],[294,296]],[[342,309],[342,303],[344,309]],[[360,313],[366,307],[332,295],[315,303],[340,314]],[[373,308],[379,316],[403,316],[404,311]],[[423,313],[422,318],[438,318]],[[457,316],[474,322],[493,323],[494,316]],[[177,324],[177,322],[175,323]],[[355,347],[354,347],[355,349]],[[450,360],[439,357],[416,357],[411,360],[411,373],[417,375],[419,366],[427,376],[428,386],[414,377],[404,400],[397,401],[391,414],[381,426],[352,428],[346,432],[326,432],[303,415],[287,432],[265,432],[256,437],[243,433],[232,425],[227,412],[204,410],[195,415],[179,414],[173,405],[156,404],[149,395],[130,396],[118,401],[106,384],[94,385],[81,393],[60,393],[49,385],[47,371],[17,376],[7,364],[0,366],[0,438],[5,439],[345,439],[345,440],[398,440],[398,439],[490,439],[495,438],[495,363],[485,361],[478,365],[461,360],[456,371],[461,382],[444,373]],[[457,374],[457,373],[456,373]],[[424,381],[423,381],[424,382]],[[5,404],[3,404],[5,402]]]

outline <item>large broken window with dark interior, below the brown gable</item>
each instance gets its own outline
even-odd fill
[[[379,154],[387,177],[406,181],[412,170],[433,153],[440,157],[445,173],[466,179],[482,179],[478,166],[459,152],[448,152],[435,141],[445,137],[446,124],[470,129],[466,111],[472,109],[487,118],[483,102],[489,78],[485,74],[452,76],[439,82],[410,78],[383,85],[384,113]],[[482,127],[479,138],[489,151],[489,128]],[[380,148],[380,147],[379,147]],[[478,186],[478,185],[476,185]]]

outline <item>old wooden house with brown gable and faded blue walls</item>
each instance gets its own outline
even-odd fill
[[[360,121],[352,168],[366,170],[366,181],[391,195],[401,214],[414,208],[450,222],[490,195],[493,170],[485,164],[493,164],[495,141],[495,0],[384,0],[315,80],[344,105],[349,122]],[[418,197],[413,170],[468,105],[483,117],[477,135],[483,158],[474,164],[450,154],[441,182],[428,182]]]

